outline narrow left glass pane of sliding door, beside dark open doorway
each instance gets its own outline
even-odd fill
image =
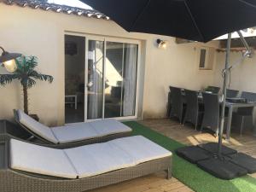
[[[104,42],[88,40],[87,119],[102,119]]]

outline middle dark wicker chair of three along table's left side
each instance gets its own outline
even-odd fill
[[[200,108],[198,102],[198,92],[195,90],[184,90],[186,99],[186,113],[183,119],[183,125],[186,122],[195,125],[195,130],[197,125],[201,124],[201,117],[203,110]]]

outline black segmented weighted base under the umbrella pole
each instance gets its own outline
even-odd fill
[[[218,143],[205,143],[176,150],[178,156],[218,178],[229,180],[256,172],[255,158],[225,146],[221,157],[218,157],[217,152]]]

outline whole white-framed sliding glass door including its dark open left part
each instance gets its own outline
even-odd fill
[[[136,117],[138,50],[134,42],[66,35],[66,123]]]

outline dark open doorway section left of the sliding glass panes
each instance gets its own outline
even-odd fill
[[[65,35],[65,123],[84,122],[85,38]]]

